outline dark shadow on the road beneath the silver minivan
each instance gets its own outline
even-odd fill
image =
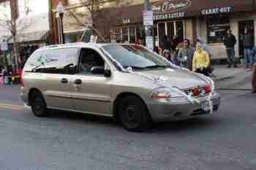
[[[122,129],[120,123],[118,123],[116,120],[113,120],[113,118],[111,117],[102,117],[62,111],[53,111],[51,112],[50,117],[64,121],[75,121],[75,123],[90,123],[91,125],[103,125],[109,128]],[[179,134],[183,132],[187,133],[188,131],[206,131],[207,129],[217,127],[219,123],[221,123],[221,120],[216,117],[200,117],[193,118],[191,120],[182,120],[178,122],[153,123],[151,128],[144,133]]]

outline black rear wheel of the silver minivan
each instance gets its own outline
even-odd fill
[[[45,104],[45,99],[42,94],[35,91],[31,94],[31,110],[37,117],[47,117],[49,115],[49,110]]]

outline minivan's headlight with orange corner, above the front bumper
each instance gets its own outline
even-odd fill
[[[157,88],[151,93],[151,98],[153,99],[169,99],[169,98],[182,98],[181,94],[176,91],[171,90],[170,88]]]

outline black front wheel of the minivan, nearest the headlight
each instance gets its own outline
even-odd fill
[[[145,131],[151,125],[146,105],[133,95],[125,96],[118,102],[118,120],[127,131]]]

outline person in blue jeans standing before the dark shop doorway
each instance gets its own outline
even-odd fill
[[[254,46],[254,42],[252,39],[252,34],[250,34],[247,28],[244,29],[243,45],[246,69],[252,69],[252,47]]]

